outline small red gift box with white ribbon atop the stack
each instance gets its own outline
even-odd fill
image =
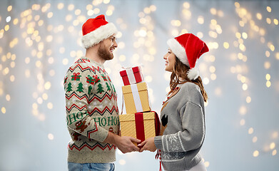
[[[124,86],[141,83],[141,81],[143,81],[143,74],[141,73],[141,67],[139,66],[120,71],[120,76],[122,77]]]

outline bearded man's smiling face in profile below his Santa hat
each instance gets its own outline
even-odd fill
[[[98,48],[98,56],[103,58],[105,61],[113,59],[113,50],[117,48],[116,37],[110,36],[105,40],[100,42],[100,46]]]

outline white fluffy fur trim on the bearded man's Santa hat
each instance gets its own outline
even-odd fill
[[[89,48],[100,43],[114,33],[117,33],[116,26],[114,26],[113,23],[108,23],[82,36],[81,43],[84,48]]]

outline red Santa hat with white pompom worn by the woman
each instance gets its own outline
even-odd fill
[[[185,33],[176,38],[171,38],[167,43],[176,57],[186,66],[190,67],[187,73],[188,78],[196,80],[199,76],[196,61],[203,53],[209,51],[206,43],[192,33]]]

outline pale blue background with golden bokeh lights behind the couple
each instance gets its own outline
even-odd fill
[[[64,75],[81,26],[105,14],[118,48],[105,63],[118,92],[121,67],[141,65],[152,109],[168,92],[166,41],[194,33],[210,52],[198,61],[209,100],[201,154],[208,170],[278,170],[278,1],[0,2],[0,170],[66,170]],[[125,110],[124,110],[125,112]],[[153,152],[117,152],[116,170],[158,170]]]

